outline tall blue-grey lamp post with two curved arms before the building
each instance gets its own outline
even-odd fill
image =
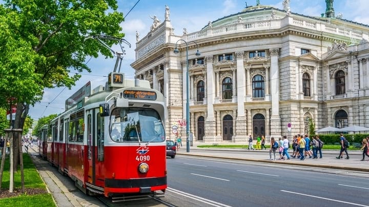
[[[178,54],[179,50],[177,49],[177,43],[179,41],[183,41],[186,44],[186,66],[187,66],[187,70],[186,70],[186,152],[190,152],[190,91],[189,91],[189,87],[190,87],[190,83],[189,83],[189,79],[190,79],[190,74],[189,74],[189,62],[188,62],[188,42],[186,40],[183,39],[179,39],[176,42],[176,47],[174,49],[174,53]],[[198,52],[198,45],[195,41],[189,41],[189,42],[193,42],[196,44],[196,48],[197,48],[197,52],[196,52],[196,56],[200,55],[200,52]]]

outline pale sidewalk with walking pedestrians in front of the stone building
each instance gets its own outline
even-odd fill
[[[339,170],[351,170],[360,172],[369,172],[369,161],[360,161],[362,158],[361,150],[348,150],[350,156],[360,157],[351,159],[337,159],[335,158],[339,154],[339,150],[322,150],[323,158],[312,159],[305,158],[305,160],[299,160],[297,158],[278,160],[279,152],[276,152],[277,160],[269,160],[269,149],[267,150],[248,150],[245,148],[199,148],[197,145],[207,145],[205,143],[194,142],[190,147],[190,152],[186,151],[186,143],[183,144],[177,154],[188,156],[201,156],[201,157],[213,157],[213,158],[226,158],[234,160],[244,160],[249,162],[260,163],[275,163],[282,165],[296,165],[318,168],[329,168]],[[239,152],[239,153],[235,153]],[[292,149],[289,150],[290,155]],[[330,156],[324,156],[330,155]],[[272,153],[273,158],[273,153]]]

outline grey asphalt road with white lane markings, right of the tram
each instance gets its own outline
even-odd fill
[[[167,165],[176,206],[369,206],[366,174],[183,155]]]

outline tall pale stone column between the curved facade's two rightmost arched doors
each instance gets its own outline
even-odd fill
[[[234,111],[236,140],[245,141],[247,136],[246,117],[244,109],[244,97],[245,97],[245,70],[243,66],[243,51],[236,53],[237,57],[237,113]],[[234,75],[235,76],[235,73]],[[237,117],[236,117],[237,116]],[[237,142],[236,141],[236,142]]]

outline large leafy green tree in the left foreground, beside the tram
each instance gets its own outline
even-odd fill
[[[79,72],[91,72],[86,57],[99,53],[112,57],[108,49],[85,37],[124,37],[119,26],[124,18],[116,0],[5,2],[0,5],[0,107],[16,105],[14,128],[23,129],[30,105],[42,99],[45,87],[71,88]],[[14,143],[21,135],[14,135]]]

